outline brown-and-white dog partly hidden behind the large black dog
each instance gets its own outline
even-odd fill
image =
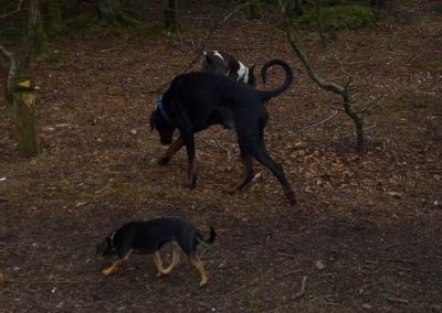
[[[254,66],[246,67],[233,55],[223,51],[204,51],[201,71],[228,76],[232,82],[241,82],[256,87]]]

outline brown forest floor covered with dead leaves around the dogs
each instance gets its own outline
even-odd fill
[[[328,50],[317,34],[299,35],[319,73],[351,75],[354,99],[372,107],[365,151],[272,12],[265,22],[239,13],[210,36],[209,48],[248,65],[277,57],[295,71],[291,90],[267,105],[266,128],[295,207],[257,164],[249,190],[225,192],[241,164],[234,133],[218,127],[197,136],[196,190],[185,187],[183,151],[156,163],[165,148],[147,126],[154,91],[186,68],[228,8],[181,8],[179,39],[99,29],[55,40],[59,60],[35,67],[38,158],[17,156],[11,114],[0,110],[0,311],[442,312],[442,14],[438,1],[408,3],[373,28],[338,33]],[[109,262],[95,245],[123,223],[158,216],[218,230],[200,249],[206,288],[187,262],[158,279],[146,256],[101,273]]]

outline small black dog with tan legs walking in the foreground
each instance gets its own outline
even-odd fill
[[[147,222],[131,222],[110,233],[102,244],[97,246],[97,255],[102,257],[118,256],[118,259],[107,269],[103,270],[105,276],[118,270],[125,263],[130,253],[154,253],[154,263],[157,276],[168,274],[180,261],[180,251],[190,258],[192,265],[200,273],[200,285],[208,281],[204,265],[197,257],[199,242],[213,244],[217,234],[210,226],[210,238],[204,239],[201,233],[189,222],[181,218],[164,217]],[[162,267],[158,250],[167,242],[173,242],[172,260],[170,266]],[[178,247],[177,247],[178,246]]]

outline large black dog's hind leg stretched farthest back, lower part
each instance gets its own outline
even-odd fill
[[[254,149],[253,156],[256,158],[259,162],[261,162],[265,168],[267,168],[273,175],[280,181],[281,185],[283,186],[284,194],[288,199],[291,205],[296,204],[296,196],[295,193],[292,191],[287,179],[285,177],[283,168],[276,163],[272,156],[270,155],[269,151],[265,149],[264,140],[260,140],[260,144]]]

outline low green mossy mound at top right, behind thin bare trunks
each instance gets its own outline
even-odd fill
[[[376,15],[371,8],[365,6],[335,6],[322,8],[322,19],[325,31],[358,30],[368,28],[376,22]],[[304,15],[295,20],[302,29],[317,28],[315,10],[308,10]]]

